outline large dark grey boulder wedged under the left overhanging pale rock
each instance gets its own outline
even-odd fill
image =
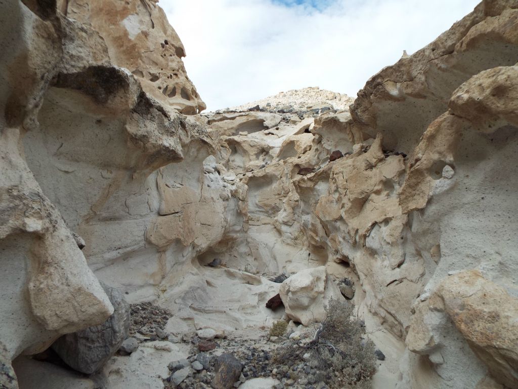
[[[102,368],[119,350],[130,329],[130,304],[117,289],[102,286],[113,305],[113,314],[103,324],[64,335],[52,344],[63,362],[82,373]]]

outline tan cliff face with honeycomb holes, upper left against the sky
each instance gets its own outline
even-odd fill
[[[89,24],[106,42],[112,62],[130,70],[154,99],[196,114],[206,108],[186,76],[185,49],[155,1],[66,3],[65,15]]]

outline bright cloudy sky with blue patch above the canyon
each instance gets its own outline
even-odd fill
[[[160,0],[209,110],[319,86],[356,96],[479,0]]]

